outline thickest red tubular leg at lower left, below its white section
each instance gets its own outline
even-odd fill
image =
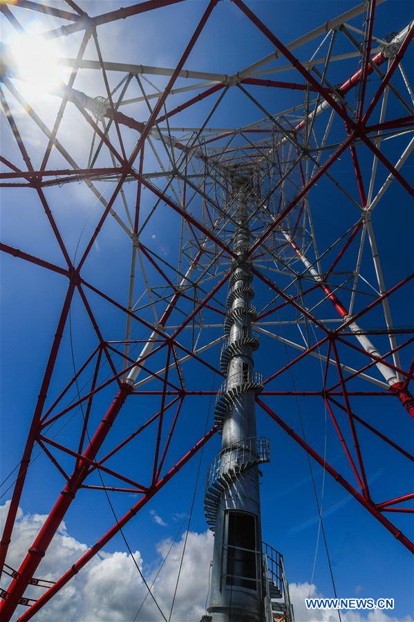
[[[102,446],[106,435],[111,429],[111,426],[115,421],[118,412],[120,412],[126,396],[128,396],[130,391],[131,387],[129,387],[129,385],[123,385],[119,392],[117,392],[113,403],[106,412],[100,426],[98,426],[97,431],[93,436],[93,439],[84,452],[84,457],[86,457],[86,459],[95,460],[97,451],[100,449],[100,446]],[[33,542],[32,547],[28,550],[28,554],[19,568],[17,577],[12,580],[12,583],[10,583],[8,588],[8,596],[0,603],[0,618],[3,622],[8,622],[11,619],[12,614],[15,612],[19,599],[26,591],[26,588],[30,583],[30,579],[35,574],[35,571],[44,557],[53,536],[55,536],[57,529],[59,529],[59,525],[64,519],[70,504],[75,499],[79,486],[84,482],[84,479],[88,473],[88,466],[88,461],[79,461],[79,466],[73,471],[69,482],[64,487],[57,502],[55,503],[55,506],[53,506],[52,511],[50,511],[50,514],[39,531],[35,542]]]

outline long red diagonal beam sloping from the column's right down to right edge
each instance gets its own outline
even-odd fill
[[[261,408],[263,408],[265,412],[267,412],[267,414],[270,415],[270,417],[272,417],[272,419],[274,419],[274,421],[276,421],[276,423],[279,423],[279,426],[281,426],[281,428],[283,428],[285,432],[288,432],[288,435],[290,435],[290,437],[292,437],[294,441],[299,443],[299,445],[305,451],[307,451],[308,454],[311,455],[312,458],[316,460],[317,463],[321,467],[323,467],[326,471],[328,471],[328,473],[332,475],[332,477],[339,484],[341,484],[341,486],[343,486],[345,490],[348,491],[350,495],[352,495],[352,497],[354,497],[357,501],[359,501],[359,503],[363,505],[364,508],[368,510],[368,512],[374,516],[374,518],[379,520],[379,522],[382,523],[384,527],[388,529],[388,531],[390,531],[393,534],[393,536],[397,538],[397,540],[399,540],[399,542],[401,542],[402,545],[404,545],[404,547],[408,549],[408,551],[411,551],[411,553],[414,553],[414,543],[411,542],[411,540],[409,540],[406,536],[404,536],[404,533],[402,533],[402,531],[399,531],[399,529],[397,529],[397,527],[395,527],[395,525],[393,525],[392,522],[384,518],[382,513],[377,510],[374,504],[366,500],[366,498],[363,495],[361,495],[361,493],[359,493],[353,486],[351,486],[351,484],[349,484],[349,482],[347,482],[346,479],[342,477],[342,475],[339,475],[339,473],[337,472],[337,470],[335,470],[335,468],[330,466],[330,464],[328,464],[328,462],[326,462],[326,460],[324,460],[323,457],[319,455],[319,453],[317,453],[314,449],[312,449],[312,447],[308,445],[306,441],[304,441],[299,435],[297,435],[297,433],[294,430],[292,430],[292,428],[290,428],[288,424],[285,423],[285,421],[283,421],[280,417],[278,417],[277,414],[275,414],[265,403],[263,403],[261,399],[256,398],[256,402],[258,403],[258,405],[261,406]]]

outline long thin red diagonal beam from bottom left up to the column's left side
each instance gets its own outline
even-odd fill
[[[171,477],[173,477],[173,475],[175,475],[180,470],[180,468],[182,468],[182,466],[184,466],[189,461],[189,459],[193,457],[194,454],[196,454],[196,452],[198,452],[198,450],[205,443],[207,443],[209,439],[211,439],[211,437],[216,433],[216,430],[216,426],[211,428],[211,430],[207,433],[207,435],[205,435],[205,437],[203,437],[203,439],[200,439],[200,441],[198,441],[198,443],[196,443],[196,445],[194,445],[194,447],[191,448],[191,450],[189,450],[189,452],[187,452],[187,454],[183,456],[177,462],[177,464],[173,466],[168,471],[168,473],[164,475],[164,477],[162,477],[162,479],[158,480],[155,486],[150,488],[147,494],[144,495],[144,497],[142,497],[140,501],[135,503],[135,505],[133,505],[131,509],[126,512],[126,514],[124,514],[124,516],[120,518],[120,520],[118,520],[117,523],[113,525],[111,529],[109,529],[109,531],[106,532],[103,538],[98,540],[91,549],[89,549],[75,564],[73,564],[73,566],[68,571],[66,571],[66,573],[61,578],[59,578],[59,580],[56,581],[53,587],[48,589],[48,591],[45,592],[45,594],[43,594],[43,596],[41,596],[34,605],[32,605],[26,612],[23,613],[22,616],[20,616],[19,622],[26,622],[26,620],[30,620],[30,618],[32,618],[32,616],[34,616],[41,609],[41,607],[46,605],[46,603],[50,601],[50,598],[55,596],[55,594],[59,592],[59,589],[64,587],[64,585],[66,585],[66,583],[68,583],[68,581],[73,578],[73,576],[75,576],[75,574],[77,574],[79,570],[82,569],[88,563],[88,561],[90,561],[93,556],[95,556],[98,551],[100,551],[102,547],[104,547],[106,543],[109,542],[109,540],[111,540],[111,538],[113,538],[113,536],[115,536],[115,534],[118,533],[118,531],[120,531],[120,529],[122,529],[122,527],[124,527],[126,523],[129,522],[129,520],[131,520],[131,518],[133,518],[135,514],[137,514],[140,509],[142,509],[142,507],[147,504],[149,500],[154,495],[156,495],[156,493],[158,493],[158,491],[163,486],[165,486],[165,484],[167,484],[167,482],[169,482]]]

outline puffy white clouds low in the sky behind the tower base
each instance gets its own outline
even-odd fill
[[[9,502],[0,506],[0,523],[3,522]],[[155,514],[155,513],[154,513]],[[32,544],[46,516],[23,513],[19,509],[8,564],[13,568]],[[176,589],[178,569],[182,556],[185,534],[171,549],[167,561],[156,579],[152,592],[167,619]],[[133,557],[140,570],[151,585],[159,563],[167,555],[172,541],[165,538],[158,542],[156,552],[159,556],[157,567],[154,560],[144,563],[140,551]],[[79,542],[62,523],[48,554],[41,561],[36,576],[55,580],[70,567],[88,547]],[[208,590],[209,563],[212,556],[213,536],[205,533],[189,532],[186,551],[180,574],[172,622],[199,622],[205,613],[205,600]],[[6,587],[4,578],[2,587]],[[37,598],[41,590],[31,587],[26,596]],[[140,574],[129,554],[123,551],[105,553],[101,551],[82,569],[58,594],[36,615],[37,622],[132,622],[147,594]],[[338,622],[335,611],[305,611],[305,598],[319,597],[317,586],[309,583],[291,583],[290,596],[294,605],[296,622]],[[20,607],[23,610],[23,607]],[[15,617],[17,619],[17,616]],[[137,622],[160,622],[160,612],[147,596]],[[392,612],[343,612],[342,622],[414,622],[411,616],[397,619]]]

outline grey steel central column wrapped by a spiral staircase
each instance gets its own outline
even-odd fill
[[[227,379],[215,408],[223,441],[211,464],[205,495],[207,522],[215,532],[209,615],[205,616],[212,622],[265,620],[258,464],[269,461],[269,443],[256,438],[254,398],[263,388],[263,378],[254,372],[253,351],[259,340],[252,330],[256,309],[250,304],[254,289],[243,183],[245,178],[233,183],[236,259],[227,298],[227,342],[220,357]]]

